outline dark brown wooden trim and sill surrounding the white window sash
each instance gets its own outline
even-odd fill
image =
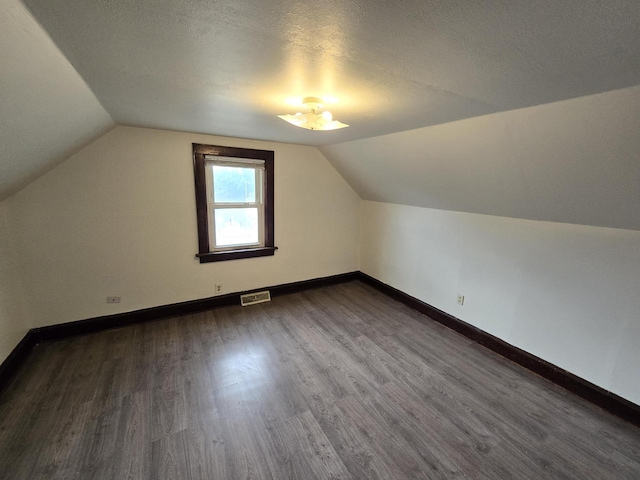
[[[235,250],[212,251],[209,245],[209,214],[207,212],[207,181],[205,176],[206,155],[232,158],[249,158],[264,161],[264,246],[239,247]],[[274,154],[271,150],[224,147],[219,145],[193,144],[193,172],[196,184],[196,214],[198,217],[198,253],[200,263],[236,260],[239,258],[265,257],[273,255],[278,247],[274,243],[273,224],[273,176]]]

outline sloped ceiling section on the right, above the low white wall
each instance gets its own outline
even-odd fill
[[[364,200],[640,230],[640,86],[321,147]]]

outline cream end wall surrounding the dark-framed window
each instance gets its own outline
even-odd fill
[[[275,151],[274,256],[196,260],[192,143]],[[360,198],[314,147],[117,127],[8,202],[35,326],[358,269]]]

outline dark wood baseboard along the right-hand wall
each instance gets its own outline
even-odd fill
[[[474,327],[453,315],[449,315],[448,313],[443,312],[422,300],[418,300],[397,288],[387,285],[366,273],[359,272],[359,277],[363,282],[375,287],[391,298],[404,303],[420,313],[424,313],[436,322],[455,330],[456,332],[478,342],[480,345],[483,345],[490,350],[493,350],[512,362],[517,363],[518,365],[537,373],[541,377],[552,381],[579,397],[588,400],[594,405],[597,405],[640,427],[640,406],[635,403],[588,382],[571,372],[532,355],[531,353],[528,353],[518,347],[514,347],[504,340]]]

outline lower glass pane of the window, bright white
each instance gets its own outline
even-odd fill
[[[216,247],[258,243],[257,208],[216,208]]]

